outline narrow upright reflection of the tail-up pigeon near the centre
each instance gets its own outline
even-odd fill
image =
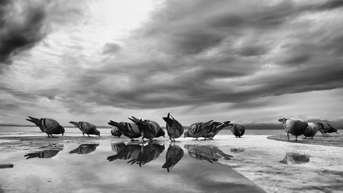
[[[183,150],[180,146],[170,144],[167,150],[167,154],[165,155],[165,164],[163,164],[162,168],[167,168],[169,172],[171,168],[173,168],[178,161],[180,161],[183,157]]]

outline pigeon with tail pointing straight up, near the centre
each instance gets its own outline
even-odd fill
[[[176,141],[175,138],[180,137],[185,129],[170,113],[168,113],[167,117],[163,117],[163,120],[166,122],[165,127],[167,128],[170,141]]]

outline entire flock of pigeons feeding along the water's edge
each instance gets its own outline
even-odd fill
[[[110,120],[108,124],[113,126],[111,129],[111,134],[117,137],[124,135],[131,140],[142,137],[142,141],[144,141],[144,139],[149,139],[152,141],[157,137],[165,137],[165,130],[163,130],[163,128],[161,128],[157,122],[152,120],[137,119],[133,116],[129,117],[128,119],[132,122],[115,122]],[[215,137],[220,130],[227,126],[230,126],[233,135],[236,137],[241,137],[245,132],[244,126],[241,124],[232,124],[230,121],[213,122],[213,120],[210,120],[208,122],[196,122],[191,124],[188,130],[185,131],[185,128],[182,126],[182,124],[172,117],[170,113],[168,113],[167,117],[163,117],[163,120],[165,120],[165,128],[171,141],[176,141],[175,138],[180,137],[182,134],[184,137],[193,137],[196,138],[196,140],[199,137],[203,137],[204,140],[213,139],[213,137]],[[64,135],[64,127],[61,126],[56,120],[49,118],[38,119],[35,117],[29,117],[27,121],[36,124],[36,126],[38,126],[42,132],[47,133],[48,137],[53,137],[53,134]],[[327,135],[327,133],[338,133],[336,128],[333,128],[333,126],[325,122],[307,123],[303,120],[294,118],[280,118],[279,122],[283,123],[283,127],[287,133],[287,139],[289,139],[289,134],[291,134],[296,136],[296,141],[300,135],[304,135],[305,139],[306,137],[311,137],[310,139],[313,139],[318,130],[320,133],[322,133],[322,135]],[[86,134],[88,137],[91,137],[90,135],[98,135],[100,137],[100,131],[97,130],[97,126],[94,124],[90,124],[88,122],[69,123],[78,127],[81,130],[82,135]]]

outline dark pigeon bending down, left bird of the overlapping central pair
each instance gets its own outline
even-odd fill
[[[128,122],[114,122],[110,120],[109,125],[117,127],[124,136],[129,137],[132,141],[134,138],[141,137],[141,130],[139,130],[137,124],[131,124]]]

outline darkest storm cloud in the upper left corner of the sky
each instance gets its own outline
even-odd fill
[[[16,10],[20,6],[21,10]],[[45,36],[45,6],[34,3],[2,1],[0,3],[0,63],[33,47]]]

